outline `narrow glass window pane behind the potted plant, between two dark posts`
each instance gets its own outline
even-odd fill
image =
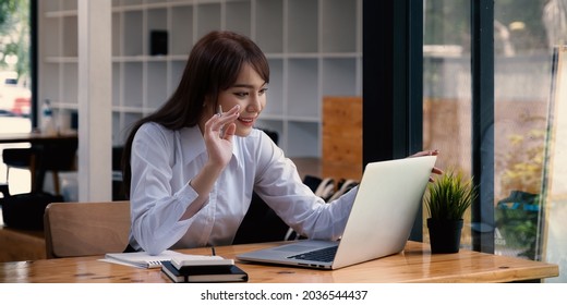
[[[424,1],[423,148],[439,149],[437,166],[471,173],[470,3]],[[426,208],[423,241],[429,243]],[[470,211],[465,216],[461,247],[470,248]]]

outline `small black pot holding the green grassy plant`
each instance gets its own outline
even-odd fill
[[[462,219],[427,219],[430,230],[431,253],[458,253],[460,248],[460,235]]]

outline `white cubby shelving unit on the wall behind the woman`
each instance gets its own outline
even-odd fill
[[[38,2],[38,100],[51,100],[64,127],[77,110],[77,3]],[[166,56],[149,54],[155,29],[168,33]],[[362,95],[362,0],[113,0],[113,144],[166,101],[191,47],[213,29],[251,37],[269,60],[257,127],[278,132],[289,157],[321,157],[323,97]]]

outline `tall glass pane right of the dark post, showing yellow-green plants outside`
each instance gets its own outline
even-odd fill
[[[551,52],[542,1],[494,5],[495,252],[536,258]]]

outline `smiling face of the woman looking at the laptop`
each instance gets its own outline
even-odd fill
[[[266,107],[267,84],[250,64],[244,64],[237,82],[228,89],[220,91],[218,105],[226,112],[240,105],[240,115],[236,135],[248,136],[260,113]]]

